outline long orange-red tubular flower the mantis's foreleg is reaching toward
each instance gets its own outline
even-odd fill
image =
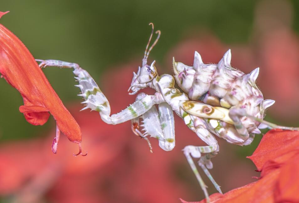
[[[1,12],[0,17],[7,12]],[[62,104],[35,59],[11,31],[0,24],[0,72],[2,77],[22,95],[24,105],[19,110],[32,125],[43,125],[50,114],[56,120],[56,138],[52,150],[56,153],[60,130],[77,143],[81,153],[81,130]]]

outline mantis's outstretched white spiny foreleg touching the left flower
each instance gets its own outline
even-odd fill
[[[42,61],[40,63],[40,67],[58,66],[61,68],[74,68],[73,73],[77,76],[76,79],[79,82],[79,85],[76,86],[79,87],[82,92],[81,94],[79,94],[79,96],[82,96],[85,99],[85,101],[82,103],[85,104],[86,107],[84,107],[82,110],[90,108],[91,110],[98,111],[102,120],[108,124],[115,125],[118,123],[129,121],[147,112],[152,108],[154,104],[163,102],[163,97],[160,93],[155,93],[155,95],[146,95],[121,112],[109,116],[109,102],[98,87],[97,83],[93,80],[93,78],[86,70],[80,68],[77,64],[64,61],[39,59],[37,59],[37,61]]]

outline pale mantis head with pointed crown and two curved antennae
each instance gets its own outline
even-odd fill
[[[152,48],[156,45],[156,43],[158,42],[160,35],[161,35],[161,31],[156,31],[156,34],[158,34],[157,39],[155,40],[155,42],[152,44],[152,46],[149,48],[149,50],[147,51],[147,48],[149,46],[149,43],[151,42],[152,39],[152,34],[154,32],[154,25],[152,23],[150,23],[149,25],[152,25],[152,33],[151,36],[147,42],[147,47],[145,49],[144,52],[144,57],[142,59],[142,67],[138,67],[138,72],[137,74],[135,72],[133,72],[133,78],[132,78],[132,82],[131,82],[131,86],[128,89],[128,92],[130,90],[132,90],[131,93],[129,94],[136,94],[139,90],[147,87],[147,83],[151,82],[157,75],[157,69],[155,67],[155,63],[156,61],[153,61],[151,65],[147,64],[147,58],[149,53],[151,52]]]

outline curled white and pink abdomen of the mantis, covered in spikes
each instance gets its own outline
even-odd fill
[[[226,112],[232,120],[208,119],[209,130],[229,143],[247,145],[260,133],[259,121],[240,117],[240,111],[255,118],[263,119],[266,108],[274,100],[264,100],[255,81],[259,68],[245,75],[231,67],[231,52],[228,50],[218,64],[204,64],[200,54],[195,52],[194,65],[187,66],[173,59],[173,68],[179,87],[192,100],[200,100],[214,107],[230,109]],[[194,110],[193,110],[194,111]],[[195,114],[194,112],[189,112]],[[249,137],[249,140],[248,140]]]

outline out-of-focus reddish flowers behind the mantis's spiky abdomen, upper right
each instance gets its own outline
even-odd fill
[[[259,1],[248,43],[228,45],[211,33],[193,33],[168,54],[168,67],[173,56],[177,61],[192,65],[194,51],[200,53],[206,64],[218,63],[230,48],[233,67],[244,73],[260,67],[257,85],[265,99],[276,101],[268,112],[275,120],[294,125],[299,118],[299,37],[292,30],[293,16],[289,1]]]

